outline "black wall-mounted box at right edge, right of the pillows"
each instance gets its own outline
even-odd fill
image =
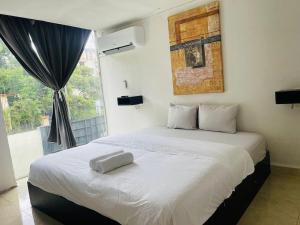
[[[300,103],[300,89],[276,91],[275,101],[276,104]]]

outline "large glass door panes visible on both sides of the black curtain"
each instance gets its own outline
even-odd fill
[[[94,33],[65,88],[77,145],[106,135],[105,108]],[[53,92],[28,75],[0,42],[0,101],[16,178],[32,161],[63,148],[49,143]]]

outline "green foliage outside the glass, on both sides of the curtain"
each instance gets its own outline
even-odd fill
[[[41,118],[51,118],[53,91],[26,73],[5,45],[0,42],[0,94],[8,96],[4,109],[8,132],[34,129]],[[66,88],[65,95],[72,120],[97,116],[96,101],[100,95],[99,77],[93,70],[78,65]]]

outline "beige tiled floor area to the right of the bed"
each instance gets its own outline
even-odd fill
[[[297,225],[300,215],[299,171],[272,169],[274,172],[272,170],[239,225]]]

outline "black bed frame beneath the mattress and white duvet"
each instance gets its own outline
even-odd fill
[[[269,176],[270,155],[255,166],[255,172],[237,186],[204,225],[237,224],[264,181]],[[61,196],[48,193],[28,182],[30,202],[34,208],[48,214],[66,225],[120,225],[101,214],[77,205]],[[188,225],[188,224],[185,224]]]

